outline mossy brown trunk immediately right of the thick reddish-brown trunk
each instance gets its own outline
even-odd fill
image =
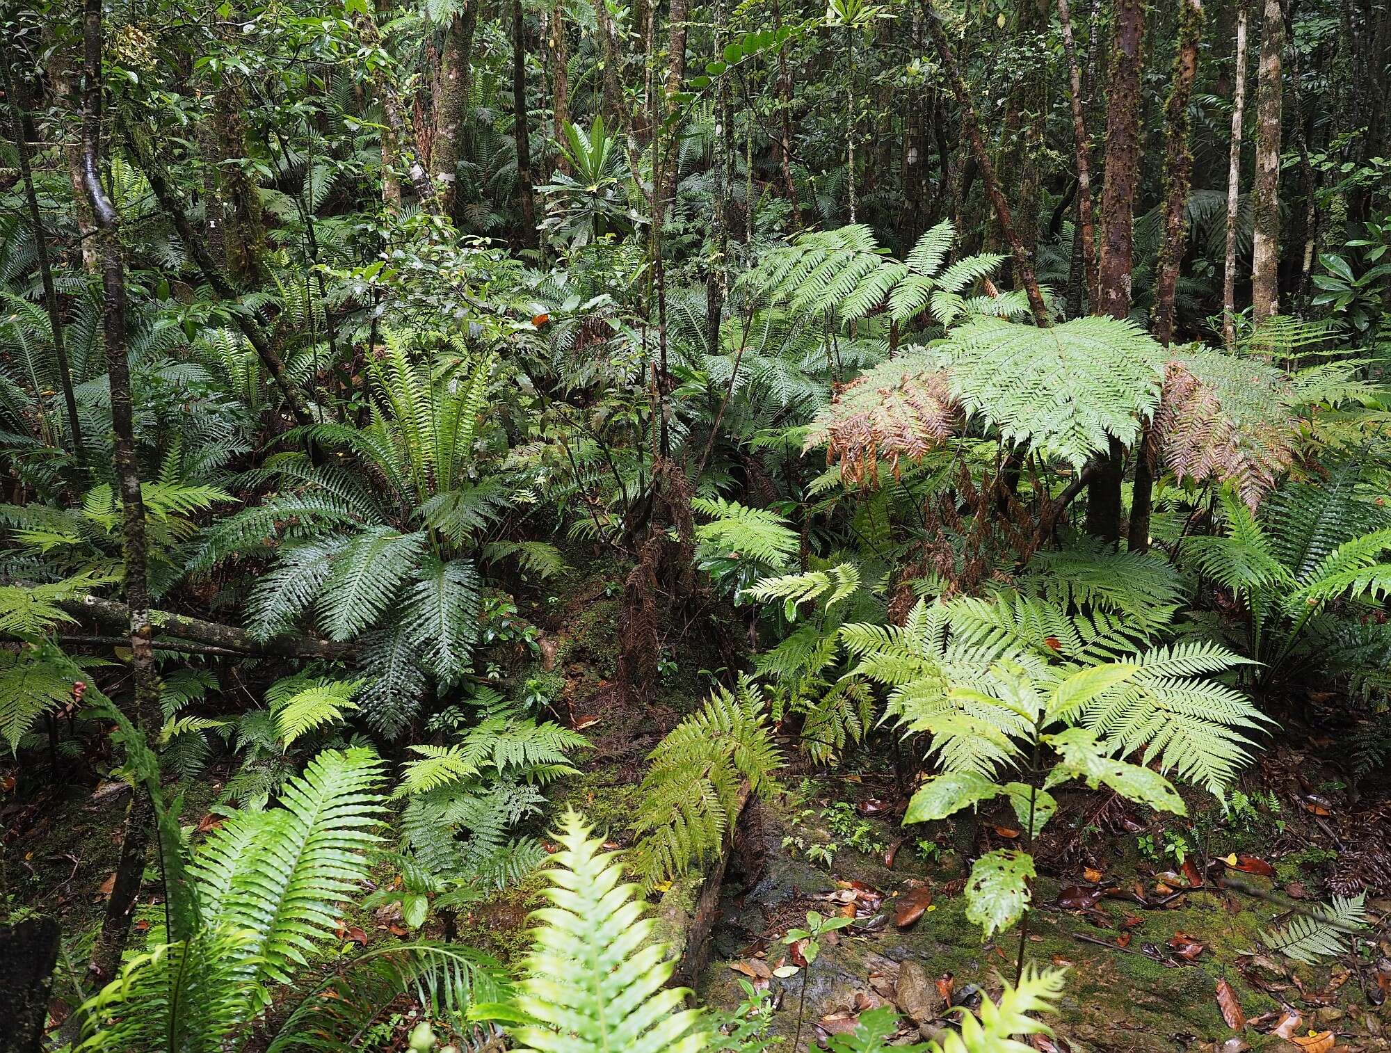
[[[1178,267],[1188,241],[1188,186],[1193,171],[1189,149],[1192,122],[1188,103],[1198,77],[1198,42],[1203,32],[1202,0],[1184,0],[1178,15],[1178,50],[1174,77],[1164,104],[1164,232],[1159,246],[1159,275],[1150,328],[1163,346],[1174,341],[1174,298]],[[1131,497],[1128,545],[1132,552],[1149,549],[1149,522],[1155,508],[1155,451],[1150,430],[1141,431],[1135,447],[1135,487]]]

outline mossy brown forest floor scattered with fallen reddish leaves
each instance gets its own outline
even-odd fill
[[[513,679],[552,677],[555,718],[581,730],[594,748],[579,758],[581,773],[555,787],[542,823],[574,807],[612,847],[622,847],[630,840],[644,758],[700,704],[701,672],[719,668],[721,655],[714,648],[679,655],[650,704],[625,704],[613,686],[619,600],[612,583],[577,574],[551,593],[526,612],[545,632],[536,652],[516,664]],[[786,746],[794,757],[796,744]],[[680,946],[694,935],[702,943],[683,947],[700,1000],[732,1008],[744,999],[740,981],[772,992],[772,1029],[789,1038],[782,1046],[789,1053],[798,1020],[796,1049],[810,1049],[886,1002],[903,1015],[903,1042],[932,1036],[949,1025],[950,1004],[970,1006],[982,989],[996,995],[1000,976],[1013,978],[1015,970],[1020,931],[982,942],[961,893],[971,857],[1020,843],[1007,805],[956,825],[904,829],[911,787],[889,761],[861,754],[850,762],[862,769],[830,776],[794,761],[779,793],[748,804],[704,940],[700,932],[672,931],[691,922],[690,901],[675,913],[666,903],[698,894],[698,878],[686,890],[668,890],[658,904],[664,939]],[[6,775],[0,769],[0,779]],[[188,789],[184,822],[195,840],[216,822],[210,808],[223,778],[214,772]],[[1059,815],[1032,846],[1040,876],[1022,945],[1031,961],[1068,967],[1061,1011],[1052,1020],[1057,1043],[1040,1040],[1040,1050],[1326,1053],[1331,1042],[1314,1042],[1312,1032],[1333,1032],[1335,1047],[1348,1053],[1391,1049],[1385,790],[1362,786],[1353,793],[1337,744],[1314,736],[1305,736],[1303,748],[1267,750],[1242,790],[1248,804],[1232,815],[1220,815],[1210,797],[1193,793],[1189,819],[1167,823],[1106,793],[1060,794]],[[63,780],[25,803],[0,797],[11,887],[21,903],[63,919],[67,958],[78,971],[100,922],[122,811],[124,787],[106,782]],[[154,876],[149,869],[147,878]],[[474,904],[459,919],[458,939],[516,961],[540,886],[533,878]],[[1257,933],[1284,921],[1291,903],[1359,889],[1367,889],[1372,925],[1349,953],[1303,965],[1260,951]],[[159,904],[152,881],[138,932],[157,931]],[[803,925],[808,911],[857,921],[823,940],[810,970],[772,976],[790,954],[780,938]],[[396,919],[363,910],[352,911],[344,929],[345,940],[363,945],[405,935]],[[60,961],[60,972],[67,968]],[[1225,1011],[1223,983],[1234,1002]],[[70,1011],[71,983],[60,979],[54,993],[58,1021]],[[1234,1013],[1244,1027],[1231,1027]],[[396,1047],[403,1034],[377,1047]]]

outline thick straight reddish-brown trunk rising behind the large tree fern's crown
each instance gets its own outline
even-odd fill
[[[1093,310],[1129,317],[1135,255],[1135,195],[1139,189],[1141,72],[1145,61],[1145,3],[1117,0],[1106,108],[1106,181],[1102,188],[1102,260]],[[1086,530],[1103,541],[1121,534],[1124,449],[1116,438],[1086,487]]]

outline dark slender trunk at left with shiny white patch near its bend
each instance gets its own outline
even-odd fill
[[[106,341],[107,376],[111,391],[111,430],[114,469],[121,494],[121,556],[125,572],[125,602],[131,611],[131,677],[135,684],[134,722],[153,728],[160,716],[160,680],[154,665],[154,633],[150,625],[146,587],[145,505],[140,501],[140,476],[135,459],[134,401],[125,327],[125,260],[121,252],[121,217],[102,184],[102,0],[83,4],[83,85],[82,85],[82,188],[96,221],[96,241],[102,259],[102,332]],[[88,978],[111,979],[121,961],[121,951],[131,932],[131,915],[145,871],[153,807],[147,793],[135,789],[125,817],[121,858],[115,871],[111,899],[106,904],[102,932],[92,947]]]

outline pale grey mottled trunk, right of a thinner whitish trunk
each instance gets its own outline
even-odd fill
[[[1266,0],[1260,19],[1260,68],[1256,72],[1256,182],[1252,188],[1251,305],[1252,320],[1257,325],[1280,313],[1280,122],[1284,96],[1280,63],[1284,46],[1285,19],[1280,0]]]

